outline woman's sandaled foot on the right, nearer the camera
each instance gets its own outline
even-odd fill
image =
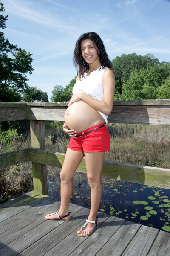
[[[93,222],[93,223],[91,223]],[[98,218],[96,218],[96,221],[88,221],[86,220],[86,223],[84,226],[81,227],[79,231],[77,231],[78,236],[89,236],[91,235],[96,227],[98,226]]]

